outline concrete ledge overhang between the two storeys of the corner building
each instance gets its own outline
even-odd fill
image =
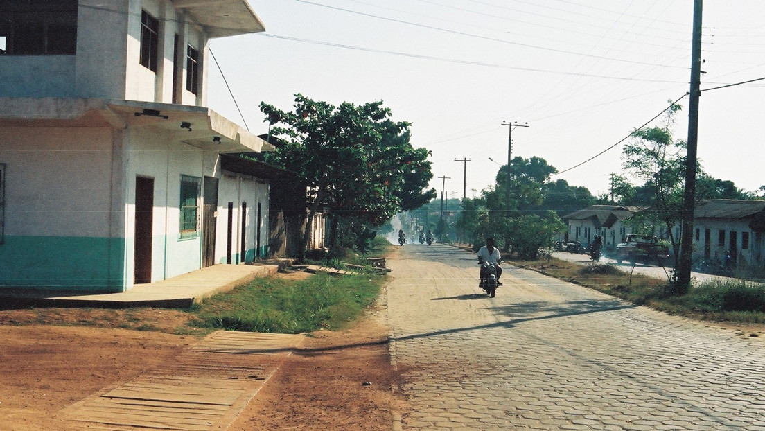
[[[0,126],[147,128],[216,153],[275,147],[204,106],[132,100],[0,98]]]

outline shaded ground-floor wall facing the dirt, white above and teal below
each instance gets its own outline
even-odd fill
[[[108,128],[0,128],[0,286],[119,291],[122,136]],[[112,189],[118,190],[112,194]],[[115,199],[115,197],[117,199]]]

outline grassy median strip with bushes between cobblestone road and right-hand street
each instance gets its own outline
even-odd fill
[[[511,260],[515,266],[575,282],[609,295],[677,315],[705,320],[765,323],[765,286],[743,280],[705,282],[682,296],[669,295],[666,279],[632,274],[613,265],[578,265],[552,258]]]

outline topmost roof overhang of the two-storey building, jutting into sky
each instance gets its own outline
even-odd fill
[[[265,31],[247,0],[172,0],[173,8],[183,11],[200,24],[210,38]]]

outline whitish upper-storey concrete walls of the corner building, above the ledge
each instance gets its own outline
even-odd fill
[[[160,22],[158,70],[140,63],[141,11]],[[180,103],[207,102],[207,35],[169,0],[80,0],[77,54],[0,57],[0,97],[97,97],[172,103],[174,35],[181,36]],[[185,90],[186,45],[200,51],[200,94]]]

